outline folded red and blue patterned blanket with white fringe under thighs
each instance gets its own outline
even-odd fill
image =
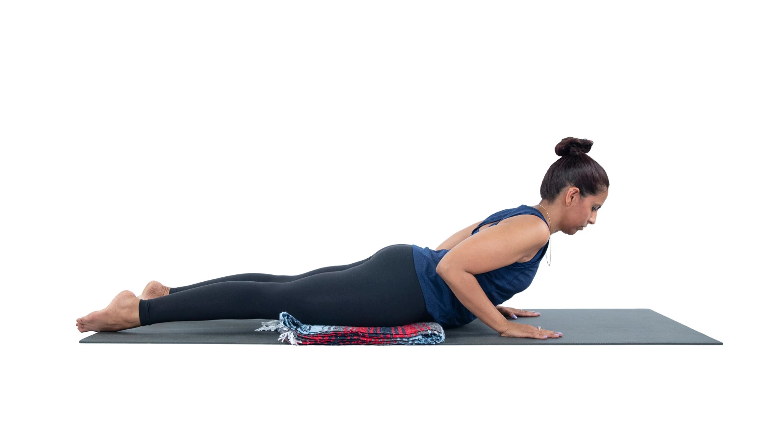
[[[408,323],[403,326],[325,326],[303,325],[288,312],[279,320],[262,322],[258,331],[277,330],[278,341],[290,344],[437,344],[444,341],[444,329],[435,322]]]

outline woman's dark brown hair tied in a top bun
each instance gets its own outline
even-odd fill
[[[607,172],[587,155],[592,140],[564,138],[555,146],[555,154],[561,156],[547,169],[539,188],[539,195],[547,202],[555,202],[565,187],[580,189],[582,198],[604,193],[610,187]]]

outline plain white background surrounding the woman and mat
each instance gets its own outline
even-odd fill
[[[781,393],[780,17],[773,2],[3,2],[5,430],[760,439]],[[152,279],[434,248],[539,202],[564,137],[594,141],[609,197],[506,305],[651,308],[724,345],[78,344],[76,318]]]

